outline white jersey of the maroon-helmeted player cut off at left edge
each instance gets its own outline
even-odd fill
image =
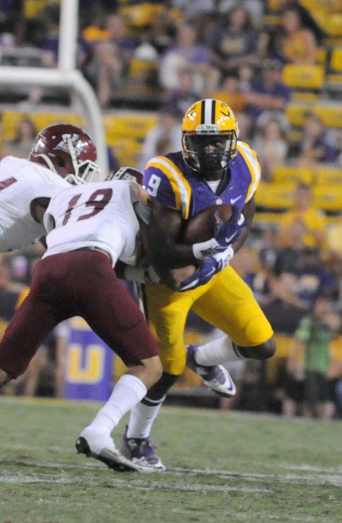
[[[13,251],[45,235],[30,213],[35,198],[52,198],[64,187],[63,178],[37,163],[6,156],[0,162],[0,252]]]

